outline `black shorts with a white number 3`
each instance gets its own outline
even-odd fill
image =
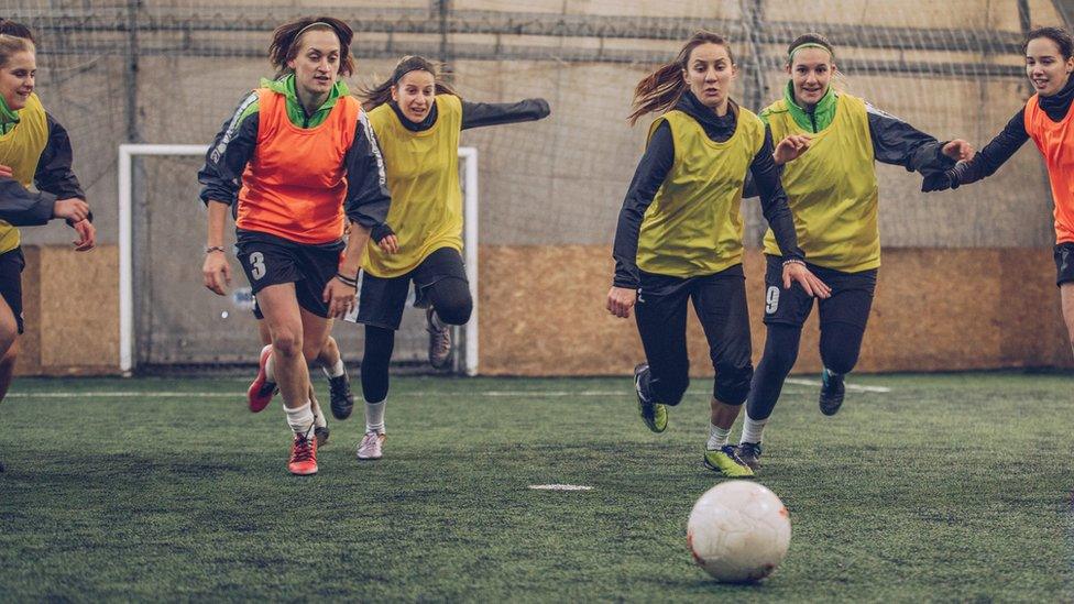
[[[239,262],[254,296],[270,285],[294,283],[298,306],[318,317],[328,317],[328,305],[321,296],[325,286],[339,272],[342,240],[308,244],[268,233],[237,232]]]

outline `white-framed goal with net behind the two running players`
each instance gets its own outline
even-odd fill
[[[205,216],[194,211],[197,174],[205,145],[121,145],[119,151],[120,222],[120,362],[138,366],[248,364],[259,348],[253,297],[242,268],[229,254],[229,296],[205,295],[198,259],[205,242]],[[464,259],[476,310],[478,290],[478,154],[459,150],[463,184]],[[152,186],[146,186],[146,183]],[[174,199],[185,202],[175,204]],[[228,229],[227,248],[234,243]],[[396,334],[394,359],[421,364],[428,333],[425,311],[407,300]],[[344,360],[361,359],[363,329],[337,321],[333,336]],[[453,371],[478,371],[478,320],[456,328]]]

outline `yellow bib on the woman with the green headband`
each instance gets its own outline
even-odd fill
[[[783,100],[761,116],[777,144],[790,134],[813,140],[809,151],[783,166],[782,176],[806,260],[857,273],[880,265],[873,136],[865,101],[840,95],[836,103],[831,125],[815,134],[798,127]],[[765,253],[781,255],[771,229],[765,234]]]

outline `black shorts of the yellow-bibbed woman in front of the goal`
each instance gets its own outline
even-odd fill
[[[469,283],[462,255],[454,248],[436,250],[413,271],[397,277],[377,277],[363,271],[355,321],[397,330],[403,322],[410,282],[414,282],[414,306],[425,308],[428,307],[425,289],[445,278],[460,278]]]

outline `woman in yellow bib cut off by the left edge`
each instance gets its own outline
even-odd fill
[[[34,94],[36,51],[29,31],[14,25],[0,24],[0,32],[18,34],[0,33],[0,400],[11,385],[23,331],[25,262],[17,227],[63,218],[78,233],[76,250],[90,250],[96,242],[86,195],[70,169],[67,131]],[[40,193],[31,193],[31,184]]]

